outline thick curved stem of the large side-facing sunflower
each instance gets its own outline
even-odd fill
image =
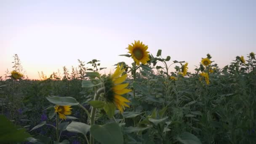
[[[98,91],[96,91],[95,95],[94,95],[94,101],[97,101],[99,99],[99,94],[103,93],[105,91],[105,88],[99,88]],[[91,109],[91,126],[94,125],[95,122],[95,114],[96,114],[96,108],[93,107]],[[94,139],[93,136],[90,133],[90,144],[94,144]]]

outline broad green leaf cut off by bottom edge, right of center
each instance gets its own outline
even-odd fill
[[[183,144],[202,144],[200,139],[198,139],[192,133],[186,131],[181,133],[181,135],[177,137],[177,140],[179,140]]]

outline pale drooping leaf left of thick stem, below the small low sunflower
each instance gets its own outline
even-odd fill
[[[86,136],[86,133],[90,131],[91,125],[87,125],[85,123],[80,123],[76,121],[72,121],[67,126],[67,131],[73,132],[73,133],[82,133],[84,136]]]

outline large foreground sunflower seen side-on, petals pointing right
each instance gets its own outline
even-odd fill
[[[125,102],[131,102],[121,96],[131,91],[130,89],[126,88],[129,83],[123,83],[127,77],[127,74],[122,75],[124,71],[125,69],[123,69],[123,64],[121,66],[118,64],[114,74],[107,77],[104,81],[106,101],[114,103],[121,113],[123,113],[125,107],[129,107],[129,105]]]

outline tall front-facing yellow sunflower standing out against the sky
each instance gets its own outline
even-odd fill
[[[134,41],[134,43],[131,43],[131,45],[128,45],[129,50],[128,53],[131,53],[131,57],[136,62],[137,65],[141,62],[142,64],[147,64],[147,61],[149,61],[149,52],[147,51],[148,46],[144,45],[142,42]]]

